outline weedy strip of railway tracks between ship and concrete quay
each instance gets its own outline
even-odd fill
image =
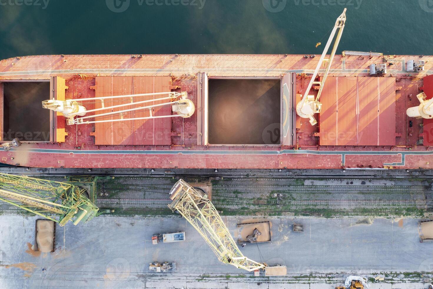
[[[171,214],[168,193],[175,181],[141,175],[100,179],[96,204],[120,215]],[[224,177],[212,183],[212,202],[223,215],[398,216],[433,208],[427,177]],[[0,210],[20,213],[5,205]]]

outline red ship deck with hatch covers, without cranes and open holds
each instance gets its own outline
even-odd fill
[[[423,77],[433,74],[433,56],[386,58],[388,65],[392,63],[388,74],[370,81],[372,77],[368,73],[369,65],[383,62],[383,56],[336,56],[326,85],[328,82],[329,85],[339,83],[337,90],[341,91],[341,83],[344,83],[347,88],[343,89],[343,99],[338,92],[336,96],[332,92],[322,96],[321,101],[326,109],[319,116],[319,125],[315,126],[311,126],[308,119],[294,114],[286,117],[284,113],[296,105],[299,95],[304,94],[310,73],[317,66],[319,57],[305,59],[304,55],[284,54],[142,57],[54,55],[1,60],[0,94],[5,90],[3,83],[49,81],[53,85],[55,78],[61,78],[65,79],[65,86],[68,87],[65,90],[66,99],[176,89],[186,91],[196,106],[196,112],[191,118],[170,118],[168,122],[152,121],[145,124],[116,122],[100,125],[99,128],[93,124],[65,125],[62,121],[65,118],[50,116],[48,112],[31,115],[38,123],[48,118],[55,125],[55,130],[51,130],[41,140],[35,137],[38,131],[30,131],[34,138],[22,141],[18,148],[0,151],[1,162],[26,167],[83,168],[432,168],[433,151],[427,146],[429,141],[424,141],[433,139],[432,132],[423,129],[422,119],[409,119],[406,109],[419,104],[416,95],[420,88],[431,87],[430,81],[424,83]],[[425,60],[425,70],[420,73],[407,72],[405,63],[410,59]],[[161,79],[164,79],[164,84],[158,84]],[[280,79],[281,105],[275,104],[263,110],[261,117],[272,112],[280,113],[281,124],[288,120],[289,126],[281,128],[281,140],[278,143],[267,142],[262,137],[263,143],[245,141],[242,144],[241,138],[235,144],[228,143],[227,140],[220,144],[210,144],[205,136],[208,108],[204,98],[207,97],[205,91],[208,81],[213,79]],[[358,84],[353,84],[354,81]],[[364,90],[362,83],[365,83]],[[290,86],[288,92],[284,91],[284,84]],[[150,90],[149,85],[152,87]],[[54,90],[59,87],[61,89],[61,85],[57,84]],[[357,98],[355,101],[344,99],[344,93],[352,93],[352,87],[356,87],[354,95],[358,95]],[[363,102],[371,91],[378,93],[378,96],[367,103]],[[51,95],[51,92],[48,93]],[[284,106],[286,93],[289,95],[289,104]],[[363,93],[366,95],[364,98],[361,97]],[[395,101],[386,102],[388,97],[385,98],[385,94],[389,95],[389,99],[395,96]],[[50,95],[47,95],[47,99]],[[336,102],[332,101],[332,97],[336,97]],[[1,102],[4,102],[3,98]],[[371,113],[376,109],[371,107],[371,102],[378,103],[378,112]],[[29,106],[29,102],[23,102],[23,105],[24,103],[27,106],[23,106],[21,112],[28,114],[27,110],[31,110],[32,106]],[[249,115],[249,112],[254,111],[251,109],[254,103],[257,102],[247,103],[248,110],[239,112],[235,115],[238,117],[233,119],[239,124],[239,131],[254,127],[256,129],[246,135],[257,133],[260,137],[263,133],[266,135],[266,130],[273,131],[275,120],[250,120],[252,114]],[[5,118],[6,106],[2,104],[0,114]],[[34,107],[39,108],[40,105],[40,100],[35,100]],[[242,103],[237,105],[242,107]],[[229,107],[234,110],[233,113],[237,112],[236,103],[229,104]],[[274,111],[278,109],[280,112]],[[260,111],[254,112],[254,115],[260,114]],[[366,112],[364,116],[362,112]],[[224,113],[226,116],[218,120],[222,124],[229,116],[233,117],[227,111],[221,115]],[[18,114],[15,117],[20,116]],[[269,122],[265,129],[257,125],[262,119]],[[255,124],[245,125],[250,121]],[[9,120],[11,122],[13,119]],[[3,123],[2,140],[6,141],[7,130],[5,131]],[[424,123],[429,125],[428,122]],[[281,124],[278,124],[278,128]],[[62,129],[64,132],[61,132]],[[371,131],[375,131],[372,137],[369,135]],[[23,135],[26,132],[28,131],[24,131]],[[42,135],[41,132],[39,134]]]

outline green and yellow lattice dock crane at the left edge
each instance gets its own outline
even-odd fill
[[[0,173],[0,200],[53,220],[74,225],[98,215],[85,195],[85,189],[72,184]]]

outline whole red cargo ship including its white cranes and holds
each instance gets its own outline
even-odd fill
[[[59,168],[432,168],[433,56],[337,55],[345,22],[343,12],[332,53],[331,33],[321,57],[1,60],[0,161]]]

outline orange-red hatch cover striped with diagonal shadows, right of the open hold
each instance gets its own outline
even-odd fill
[[[395,78],[328,77],[320,145],[395,145]]]

